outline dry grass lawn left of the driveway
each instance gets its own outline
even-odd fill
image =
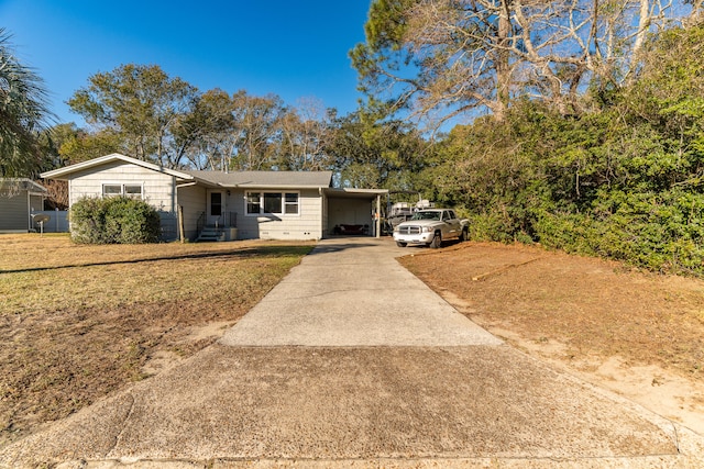
[[[0,235],[0,447],[212,344],[314,245]]]

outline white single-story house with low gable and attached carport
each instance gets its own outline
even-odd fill
[[[142,199],[162,216],[162,237],[188,239],[215,228],[228,239],[320,239],[381,233],[385,189],[336,189],[331,171],[167,169],[111,154],[41,175],[68,181],[69,204],[84,197]]]

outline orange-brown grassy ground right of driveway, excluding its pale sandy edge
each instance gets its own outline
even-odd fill
[[[402,259],[491,330],[704,381],[704,281],[537,247],[462,244]],[[477,280],[473,280],[477,279]]]

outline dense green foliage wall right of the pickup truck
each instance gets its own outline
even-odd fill
[[[565,118],[535,101],[455,127],[427,169],[475,238],[704,275],[704,27],[646,45],[629,87]]]

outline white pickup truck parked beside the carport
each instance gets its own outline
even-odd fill
[[[394,227],[394,241],[400,247],[425,244],[440,247],[446,239],[465,241],[469,222],[459,220],[453,210],[427,209]]]

